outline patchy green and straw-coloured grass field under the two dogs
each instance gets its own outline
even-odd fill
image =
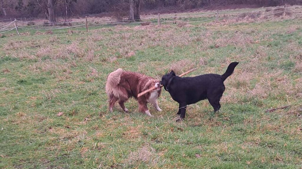
[[[299,18],[20,32],[0,38],[0,168],[302,167]],[[166,91],[153,118],[135,100],[107,110],[117,68],[160,79],[233,61],[215,114],[204,100],[175,122]]]

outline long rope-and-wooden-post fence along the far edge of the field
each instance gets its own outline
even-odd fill
[[[296,11],[299,8],[301,11]],[[293,10],[291,10],[293,9]],[[263,12],[267,14],[263,14]],[[142,19],[134,19],[134,20],[91,20],[85,19],[76,20],[76,21],[68,21],[68,22],[41,22],[41,21],[30,21],[32,19],[37,18],[16,18],[13,21],[11,19],[0,20],[0,34],[10,32],[16,29],[18,35],[18,29],[31,29],[31,30],[56,30],[56,29],[69,29],[75,27],[86,27],[88,31],[88,26],[92,25],[116,25],[116,24],[144,24],[144,23],[153,23],[157,22],[157,24],[161,23],[199,23],[206,22],[210,20],[219,20],[219,19],[242,19],[246,18],[250,15],[254,17],[265,17],[269,15],[279,16],[281,13],[285,15],[289,12],[302,12],[302,8],[300,6],[286,6],[271,8],[271,9],[262,9],[256,11],[218,11],[211,13],[203,13],[203,14],[194,14],[194,15],[160,15],[154,17],[146,17]],[[257,14],[255,14],[257,13]],[[223,17],[221,15],[223,14]],[[238,14],[242,16],[236,16]],[[277,15],[278,14],[278,15]],[[190,18],[195,18],[198,20],[189,20]],[[185,20],[183,19],[185,18]],[[178,20],[177,20],[178,19]],[[7,22],[10,20],[9,22]],[[45,27],[47,26],[47,27]],[[50,27],[51,26],[51,27]]]

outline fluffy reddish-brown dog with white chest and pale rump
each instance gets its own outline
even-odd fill
[[[137,98],[139,93],[154,86],[157,88],[156,90]],[[110,112],[113,111],[114,103],[117,100],[119,100],[120,107],[128,112],[124,102],[130,97],[137,99],[139,111],[146,113],[148,116],[152,117],[153,115],[150,114],[147,103],[153,104],[157,111],[162,111],[156,101],[161,93],[160,81],[137,72],[126,72],[123,69],[111,72],[106,82],[106,93],[109,97]]]

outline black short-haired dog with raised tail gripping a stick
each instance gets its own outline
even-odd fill
[[[220,98],[225,90],[223,81],[233,72],[238,62],[231,63],[223,75],[205,74],[196,77],[179,77],[173,71],[162,76],[162,85],[168,91],[173,100],[179,103],[178,115],[185,118],[188,104],[197,103],[208,99],[214,108],[214,112],[220,109]],[[178,119],[178,120],[181,120]]]

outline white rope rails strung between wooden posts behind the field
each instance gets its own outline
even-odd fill
[[[290,10],[291,8],[301,8],[300,6],[286,6],[286,4],[284,5],[284,7],[278,7],[278,8],[271,8],[271,9],[263,9],[263,10],[257,10],[257,11],[218,11],[217,12],[212,12],[212,13],[204,13],[204,14],[194,14],[194,15],[160,15],[158,14],[158,16],[154,16],[154,17],[147,17],[147,18],[142,18],[142,19],[135,19],[135,20],[88,20],[87,17],[86,19],[83,20],[76,20],[76,21],[68,21],[68,22],[38,22],[38,21],[27,21],[26,19],[37,19],[37,18],[16,18],[13,21],[11,19],[5,19],[5,20],[0,20],[0,21],[4,21],[4,22],[0,22],[0,33],[6,33],[9,31],[12,31],[14,29],[16,29],[18,35],[18,28],[20,29],[32,29],[32,30],[55,30],[55,29],[68,29],[68,28],[75,28],[75,27],[79,27],[79,26],[86,26],[86,29],[88,31],[88,25],[114,25],[114,24],[138,24],[138,23],[151,23],[151,22],[158,22],[158,24],[160,25],[161,22],[166,22],[166,23],[198,23],[198,22],[205,22],[205,21],[209,21],[209,20],[219,20],[219,19],[232,19],[232,18],[246,18],[246,17],[226,17],[226,15],[232,15],[232,14],[249,14],[249,13],[255,13],[255,12],[269,12],[269,11],[273,11],[273,10],[281,10],[282,11],[277,11],[274,13],[270,13],[270,14],[258,14],[255,17],[263,17],[263,16],[269,16],[269,15],[275,15],[275,14],[279,14],[279,13],[283,13],[283,15],[286,14],[286,12],[302,12],[302,11],[294,11],[294,10]],[[302,9],[301,9],[302,10]],[[219,15],[222,15],[223,17],[219,17]],[[216,15],[216,17],[215,17]],[[176,18],[180,18],[180,17],[198,17],[198,16],[204,16],[203,18],[201,18],[202,20],[197,20],[197,21],[176,21]],[[208,18],[206,18],[208,17]],[[173,20],[169,20],[169,18],[173,19]],[[7,20],[11,20],[10,22],[5,22]],[[146,21],[144,21],[146,20]],[[138,21],[138,22],[135,22]],[[80,23],[82,22],[82,24]],[[84,22],[84,24],[83,24]],[[54,28],[40,28],[40,27],[36,27],[36,28],[31,28],[31,27],[26,27],[26,26],[18,26],[18,23],[20,23],[20,25],[24,25],[27,24],[28,26],[30,25],[37,25],[37,26],[56,26]],[[79,25],[74,25],[72,26],[72,23],[80,23]],[[4,26],[2,26],[4,25]],[[69,25],[69,26],[67,26]],[[58,27],[60,26],[60,27]],[[64,27],[61,27],[64,26]]]

